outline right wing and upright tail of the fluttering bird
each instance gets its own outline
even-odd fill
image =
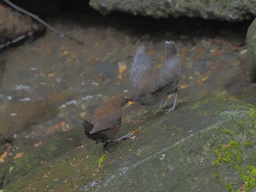
[[[181,76],[181,58],[176,55],[176,45],[174,42],[165,42],[165,64],[154,74],[150,92],[154,93],[159,88],[178,80]]]

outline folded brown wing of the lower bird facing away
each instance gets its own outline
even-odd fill
[[[114,128],[121,121],[121,111],[110,111],[105,115],[100,116],[94,124],[94,128],[90,131],[90,134],[94,134],[98,131],[103,131],[109,128]]]

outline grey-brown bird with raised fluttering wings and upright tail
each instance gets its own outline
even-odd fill
[[[165,64],[154,70],[153,58],[140,46],[135,52],[132,63],[131,80],[135,87],[132,100],[142,105],[153,105],[161,100],[159,109],[152,111],[154,115],[162,112],[165,96],[176,93],[173,107],[165,110],[165,114],[175,110],[178,98],[178,82],[181,78],[181,58],[177,55],[174,42],[165,42]]]

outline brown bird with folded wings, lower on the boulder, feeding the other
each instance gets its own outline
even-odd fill
[[[117,132],[121,128],[121,108],[129,101],[131,99],[122,95],[110,97],[105,107],[96,112],[91,123],[83,120],[83,128],[86,136],[89,139],[95,140],[96,144],[99,142],[105,143],[103,147],[106,147],[109,142],[120,142],[123,139],[129,138],[130,132],[119,139],[115,139]]]

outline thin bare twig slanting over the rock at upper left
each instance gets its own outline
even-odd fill
[[[11,7],[13,7],[14,9],[17,9],[19,12],[23,12],[26,15],[29,15],[31,18],[34,18],[35,20],[37,20],[39,23],[42,23],[42,25],[44,25],[45,27],[49,28],[51,31],[53,31],[56,34],[59,34],[59,37],[67,37],[69,39],[72,39],[75,42],[80,43],[81,45],[84,45],[84,42],[81,42],[78,39],[75,39],[74,37],[71,37],[67,34],[62,33],[61,31],[57,30],[56,28],[53,28],[52,26],[50,26],[48,23],[46,23],[44,20],[38,18],[37,15],[34,15],[31,12],[26,11],[25,9],[22,9],[21,7],[18,7],[17,5],[13,4],[11,1],[9,0],[3,0],[5,3],[9,4]]]

